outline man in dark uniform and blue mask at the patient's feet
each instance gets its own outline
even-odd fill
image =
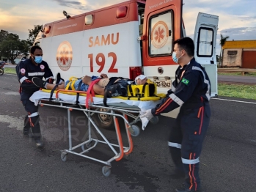
[[[20,82],[21,103],[26,112],[24,119],[23,135],[29,136],[30,128],[32,130],[34,141],[37,148],[43,148],[41,140],[38,106],[34,106],[29,97],[40,88],[32,82],[33,77],[45,78],[48,83],[53,83],[54,76],[48,64],[43,61],[43,51],[39,46],[32,46],[29,59],[24,59],[16,66],[18,81]]]

